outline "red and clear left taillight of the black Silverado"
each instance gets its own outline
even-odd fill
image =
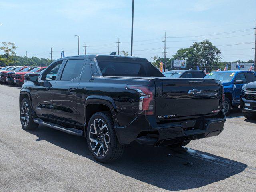
[[[138,113],[143,115],[154,115],[154,92],[155,87],[126,85],[127,89],[136,90],[139,94]]]

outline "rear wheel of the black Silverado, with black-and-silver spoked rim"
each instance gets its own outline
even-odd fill
[[[86,138],[90,152],[99,162],[117,160],[124,152],[124,145],[118,142],[113,120],[107,112],[97,112],[90,118]]]

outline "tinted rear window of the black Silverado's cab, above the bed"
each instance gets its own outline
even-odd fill
[[[103,76],[164,76],[148,60],[143,58],[99,56],[96,60]]]

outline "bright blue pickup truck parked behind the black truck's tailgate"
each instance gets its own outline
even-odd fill
[[[228,115],[231,108],[238,108],[240,105],[243,85],[256,81],[256,72],[216,71],[206,75],[204,79],[215,79],[222,82],[225,91],[224,112]]]

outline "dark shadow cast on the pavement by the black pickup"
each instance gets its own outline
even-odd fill
[[[45,140],[120,174],[165,190],[177,191],[206,186],[239,174],[247,167],[246,164],[192,148],[146,146],[127,147],[119,160],[102,164],[94,160],[83,137],[45,126],[28,132],[38,137],[36,141]]]

